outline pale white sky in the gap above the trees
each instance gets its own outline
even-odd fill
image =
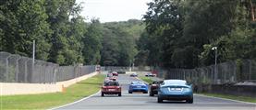
[[[99,18],[101,22],[141,19],[152,0],[77,0],[83,7],[80,15],[90,21]]]

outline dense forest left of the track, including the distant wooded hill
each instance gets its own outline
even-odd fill
[[[85,22],[76,0],[1,0],[0,50],[60,65],[128,66],[137,54],[140,20]]]

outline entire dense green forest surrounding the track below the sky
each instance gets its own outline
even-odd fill
[[[1,0],[0,50],[60,65],[196,68],[255,59],[255,0],[152,0],[142,20],[85,22],[76,0]]]

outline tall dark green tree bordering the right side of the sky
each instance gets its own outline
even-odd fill
[[[144,15],[146,30],[152,36],[150,56],[157,57],[156,65],[174,67],[172,55],[178,38],[183,35],[183,8],[179,0],[154,0],[148,4],[148,12]],[[159,55],[157,55],[159,54]],[[160,63],[161,62],[161,63]]]

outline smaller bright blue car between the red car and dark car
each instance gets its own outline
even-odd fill
[[[148,93],[148,85],[144,82],[131,82],[128,87],[128,93],[142,92]]]

